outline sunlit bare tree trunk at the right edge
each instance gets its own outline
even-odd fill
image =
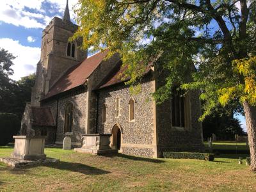
[[[251,154],[250,169],[256,171],[256,107],[251,106],[248,102],[243,102],[243,108]]]

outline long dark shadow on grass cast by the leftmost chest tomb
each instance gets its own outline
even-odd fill
[[[47,166],[49,168],[54,168],[58,170],[83,173],[84,175],[102,175],[111,173],[105,170],[100,170],[99,168],[95,168],[93,166],[88,166],[86,164],[70,163],[66,161],[60,161],[60,163],[42,164],[42,166]]]

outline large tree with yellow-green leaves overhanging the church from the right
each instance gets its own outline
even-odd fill
[[[200,88],[204,114],[236,102],[248,128],[251,169],[256,170],[256,2],[255,0],[80,0],[81,24],[70,40],[83,37],[83,49],[120,52],[129,84],[148,63],[168,74],[154,93],[171,96],[173,84]],[[195,65],[195,67],[193,67]],[[189,82],[188,72],[193,81]]]

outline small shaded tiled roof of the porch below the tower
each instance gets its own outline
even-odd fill
[[[31,107],[33,125],[54,127],[54,120],[50,108]]]

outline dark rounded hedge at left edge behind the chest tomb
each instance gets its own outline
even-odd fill
[[[20,130],[20,120],[12,113],[0,113],[0,145],[13,141],[12,136]]]

